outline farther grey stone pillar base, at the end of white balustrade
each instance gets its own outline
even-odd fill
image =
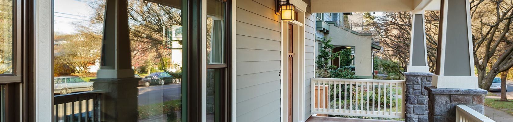
[[[403,95],[406,103],[405,121],[427,121],[428,120],[428,92],[423,89],[431,86],[433,73],[404,72],[406,87]]]

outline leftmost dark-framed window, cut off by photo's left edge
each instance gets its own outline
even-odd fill
[[[0,0],[0,122],[19,121],[22,90],[21,1]]]

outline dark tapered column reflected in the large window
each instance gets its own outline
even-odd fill
[[[126,0],[108,0],[100,70],[97,78],[133,77]]]

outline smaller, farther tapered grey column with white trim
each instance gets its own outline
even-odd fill
[[[424,10],[412,11],[410,60],[407,72],[429,72],[429,67],[427,66],[424,13]]]

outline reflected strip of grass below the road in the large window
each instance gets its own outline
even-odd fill
[[[179,111],[181,107],[181,99],[169,100],[165,101],[164,103],[139,106],[139,119]]]

